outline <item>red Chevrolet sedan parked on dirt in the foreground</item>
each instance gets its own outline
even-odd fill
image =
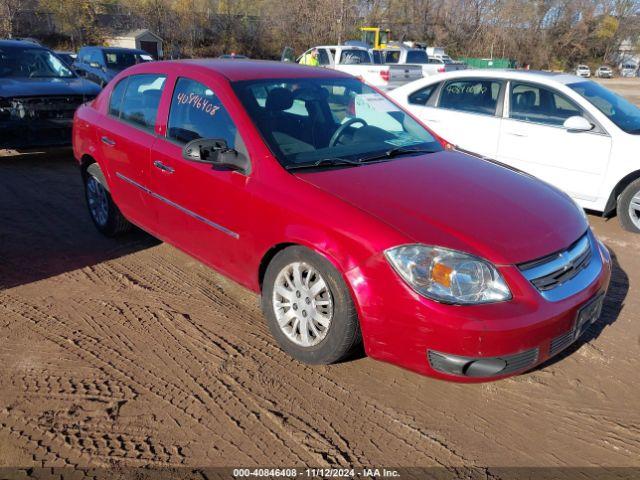
[[[280,346],[457,381],[531,369],[600,314],[611,260],[572,200],[326,69],[137,65],[74,123],[89,212],[259,292]]]

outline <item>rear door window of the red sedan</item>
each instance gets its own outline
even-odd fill
[[[144,74],[131,75],[126,80],[126,88],[120,102],[120,108],[117,109],[117,116],[136,127],[153,131],[166,77],[164,75]],[[117,97],[114,97],[116,90],[123,82],[120,82],[114,89],[112,94],[114,102],[117,102]],[[114,107],[116,106],[117,103],[114,103]]]

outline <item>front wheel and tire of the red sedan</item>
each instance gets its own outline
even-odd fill
[[[297,282],[296,269],[300,272]],[[273,337],[301,362],[335,363],[362,342],[358,314],[342,276],[327,259],[307,248],[294,246],[276,254],[265,272],[261,303]],[[327,323],[327,318],[325,327],[322,322]],[[289,323],[281,327],[279,319]]]

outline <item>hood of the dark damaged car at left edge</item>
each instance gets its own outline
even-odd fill
[[[0,78],[0,97],[40,95],[88,95],[100,93],[100,87],[83,78]]]

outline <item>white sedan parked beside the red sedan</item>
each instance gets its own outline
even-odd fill
[[[464,70],[389,95],[452,145],[535,175],[585,209],[617,211],[640,233],[640,109],[598,83]]]

